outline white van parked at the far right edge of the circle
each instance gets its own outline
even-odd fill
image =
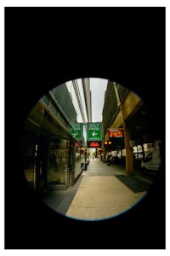
[[[141,162],[141,170],[143,172],[158,171],[161,164],[160,150],[154,150],[146,155]]]

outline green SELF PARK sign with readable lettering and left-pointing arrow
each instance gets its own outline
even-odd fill
[[[87,141],[102,141],[101,123],[87,124]]]

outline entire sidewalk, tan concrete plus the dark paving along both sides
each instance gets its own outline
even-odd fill
[[[129,210],[147,193],[150,183],[126,175],[119,165],[90,160],[77,183],[66,190],[43,190],[42,201],[69,218],[99,220]]]

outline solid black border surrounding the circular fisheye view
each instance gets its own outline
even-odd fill
[[[166,8],[8,7],[4,13],[5,249],[164,249],[164,160],[149,195],[132,211],[101,222],[77,221],[56,216],[28,188],[20,170],[20,134],[48,90],[96,77],[141,96],[165,145]]]

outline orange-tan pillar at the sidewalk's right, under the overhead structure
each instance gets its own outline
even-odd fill
[[[124,142],[126,148],[126,174],[133,173],[133,148],[130,147],[129,141],[131,140],[131,134],[126,127],[124,130]]]

